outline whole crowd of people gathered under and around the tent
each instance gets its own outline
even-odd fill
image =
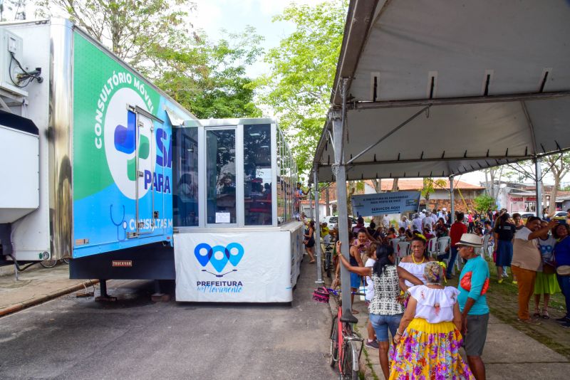
[[[321,236],[323,228],[328,239],[336,235],[321,226]],[[378,227],[374,222],[365,227],[359,218],[349,232],[349,259],[340,254],[340,241],[335,250],[339,263],[351,273],[351,290],[366,286],[370,314],[366,345],[378,349],[386,379],[406,379],[414,374],[425,379],[480,380],[485,379],[481,356],[487,337],[485,294],[490,281],[483,241],[494,247],[499,284],[509,278],[510,268],[512,283],[518,287],[519,322],[540,324],[539,320],[549,319],[550,297],[562,292],[566,315],[556,321],[561,327],[570,327],[569,233],[566,221],[536,216],[523,221],[519,214],[510,216],[504,209],[457,212],[453,223],[445,209],[424,210],[411,220],[402,216],[398,223],[388,219],[386,225],[383,218]],[[444,236],[450,237],[449,250],[432,258],[427,241]],[[394,238],[410,243],[409,255],[399,262],[390,244]],[[445,286],[457,258],[464,263],[458,285]],[[337,276],[339,268],[340,264]],[[529,310],[533,295],[534,313]],[[393,337],[391,350],[388,332]],[[467,363],[459,355],[462,346]]]

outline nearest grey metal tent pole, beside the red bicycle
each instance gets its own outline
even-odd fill
[[[348,240],[348,207],[346,204],[346,165],[344,162],[343,140],[344,130],[346,128],[346,90],[348,85],[348,78],[343,78],[342,82],[342,95],[343,107],[340,115],[335,112],[333,118],[333,137],[335,149],[335,164],[338,165],[336,172],[336,201],[338,208],[338,240],[342,242],[341,253],[350,260],[348,250],[350,248],[350,241]],[[351,279],[348,270],[341,264],[341,297],[343,305],[343,317],[354,318],[352,315],[351,305]]]

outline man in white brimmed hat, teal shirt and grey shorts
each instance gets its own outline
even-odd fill
[[[457,302],[462,316],[461,333],[465,342],[465,354],[469,368],[475,379],[485,379],[485,366],[481,359],[487,324],[489,323],[489,306],[485,293],[489,288],[489,266],[475,248],[483,246],[480,236],[475,233],[464,233],[456,243],[459,255],[467,260],[461,271],[459,295]]]

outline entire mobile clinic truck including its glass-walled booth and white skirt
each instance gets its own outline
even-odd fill
[[[234,134],[233,147],[228,145],[230,138],[220,140],[225,151],[217,149],[211,136],[227,127],[204,127],[70,21],[0,23],[0,36],[0,157],[5,163],[0,168],[4,179],[0,187],[0,263],[72,258],[71,278],[102,280],[103,298],[107,297],[105,280],[120,278],[176,280],[177,294],[184,294],[182,300],[228,301],[212,290],[224,283],[241,284],[233,288],[230,301],[291,301],[302,258],[300,246],[291,244],[291,231],[299,240],[301,230],[299,223],[278,226],[277,182],[282,183],[282,198],[291,199],[294,176],[290,157],[287,171],[277,172],[274,122],[264,122],[271,130],[264,154],[273,153],[269,154],[269,169],[264,171],[271,175],[266,182],[269,189],[260,191],[255,162],[250,159],[247,163],[247,178],[252,179],[247,184],[246,171],[238,166],[243,165],[244,125],[229,128],[239,131]],[[220,131],[211,132],[214,130]],[[202,140],[195,140],[194,146],[192,139],[197,137]],[[283,143],[279,145],[281,161],[285,148]],[[231,154],[234,158],[228,159]],[[206,159],[220,167],[207,168]],[[206,170],[209,178],[215,179],[208,184]],[[204,181],[195,191],[198,178]],[[244,186],[250,189],[244,190]],[[208,201],[207,192],[212,195]],[[223,249],[214,236],[204,241],[187,238],[213,227],[224,227],[215,231],[217,238],[240,238],[231,233],[244,226],[242,204],[263,204],[260,196],[269,196],[275,205],[275,210],[264,216],[264,223],[273,226],[273,233],[279,230],[285,236],[281,255],[286,255],[286,260],[277,262],[284,263],[280,270],[286,276],[281,279],[287,280],[279,283],[283,291],[278,297],[273,292],[263,296],[251,292],[263,285],[259,281],[264,276],[254,268],[257,248],[244,241],[249,236],[259,237],[259,231],[241,231],[244,241],[232,241],[233,245]],[[289,205],[288,216],[283,216],[291,221],[291,202],[279,202],[283,210]],[[206,210],[214,206],[217,210],[212,216],[208,211],[206,217]],[[233,211],[228,211],[232,207]],[[255,210],[249,211],[261,215]],[[175,216],[181,226],[176,255]],[[199,268],[191,267],[188,258]],[[246,263],[252,267],[247,268]],[[263,264],[261,260],[261,268]],[[225,274],[228,269],[231,273]],[[244,275],[248,271],[251,274]],[[211,283],[199,278],[208,273],[213,273]],[[237,273],[239,278],[232,278]],[[269,275],[266,281],[275,283]],[[190,282],[192,286],[187,285]],[[212,296],[204,298],[197,296],[198,292]]]

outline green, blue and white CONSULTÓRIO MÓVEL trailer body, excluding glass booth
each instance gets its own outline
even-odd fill
[[[175,278],[172,120],[195,117],[66,19],[0,36],[0,262],[115,251],[72,277]]]

